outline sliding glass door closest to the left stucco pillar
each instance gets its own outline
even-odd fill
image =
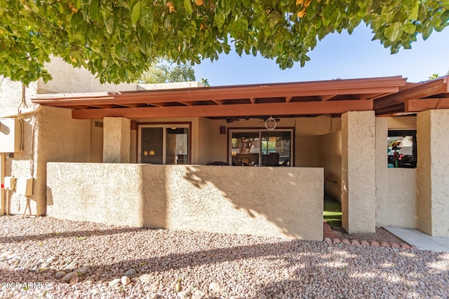
[[[189,164],[189,125],[140,125],[139,162]]]

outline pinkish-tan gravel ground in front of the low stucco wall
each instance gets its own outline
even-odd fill
[[[0,298],[449,298],[449,253],[49,217],[0,231]]]

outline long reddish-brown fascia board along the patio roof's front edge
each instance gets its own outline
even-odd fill
[[[393,93],[406,85],[406,78],[383,77],[349,80],[274,83],[265,85],[217,86],[180,90],[145,90],[133,92],[93,92],[72,95],[39,95],[33,102],[48,106],[98,104],[136,104],[164,102],[196,102],[210,100],[257,99],[275,97],[309,97],[319,95],[351,95]]]

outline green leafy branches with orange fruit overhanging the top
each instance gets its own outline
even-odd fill
[[[317,41],[361,22],[396,53],[448,26],[449,0],[0,0],[0,74],[51,78],[51,55],[102,82],[130,82],[156,57],[198,64],[236,52],[302,66]]]

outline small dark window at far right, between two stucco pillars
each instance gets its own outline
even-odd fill
[[[416,130],[388,131],[388,167],[415,168],[417,162]]]

